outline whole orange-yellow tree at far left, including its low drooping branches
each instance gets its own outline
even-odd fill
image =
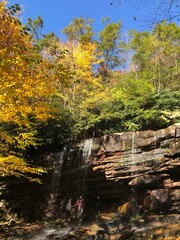
[[[0,173],[32,179],[42,170],[28,166],[23,152],[39,144],[34,122],[51,116],[54,87],[47,62],[36,59],[31,36],[6,2],[0,3],[0,22]]]

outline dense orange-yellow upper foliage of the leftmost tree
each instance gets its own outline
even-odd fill
[[[47,96],[43,64],[30,64],[33,47],[30,36],[23,32],[17,18],[8,13],[4,3],[0,3],[0,22],[0,122],[21,124],[27,114],[41,118],[47,112],[47,104],[39,107],[39,101]]]

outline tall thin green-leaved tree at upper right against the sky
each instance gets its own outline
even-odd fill
[[[146,75],[158,92],[178,87],[179,35],[179,27],[166,22],[157,24],[151,33],[132,32],[131,47],[135,51],[132,60],[136,73]]]

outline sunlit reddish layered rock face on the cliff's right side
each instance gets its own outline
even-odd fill
[[[168,205],[170,211],[180,212],[180,124],[158,131],[105,135],[96,140],[92,152],[93,171],[122,185],[120,196],[133,188],[148,211]]]

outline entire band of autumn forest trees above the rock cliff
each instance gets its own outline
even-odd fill
[[[0,174],[37,180],[28,155],[99,134],[167,127],[180,120],[180,28],[121,34],[122,23],[73,19],[66,41],[43,19],[0,3]],[[130,59],[130,60],[129,60]]]

